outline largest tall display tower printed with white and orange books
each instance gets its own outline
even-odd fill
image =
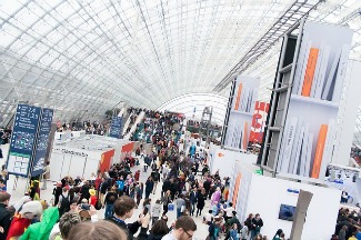
[[[287,52],[297,28],[294,51]],[[273,176],[323,179],[340,140],[337,123],[347,118],[339,109],[352,34],[344,27],[301,22],[284,36],[261,163]],[[285,63],[285,54],[292,62]]]

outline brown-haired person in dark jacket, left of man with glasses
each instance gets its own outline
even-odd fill
[[[133,223],[126,223],[126,219],[129,219],[133,216],[134,208],[137,203],[134,199],[122,196],[118,198],[114,202],[114,214],[109,217],[107,220],[113,222],[119,228],[121,228],[128,236],[127,240],[132,240],[133,234],[138,231],[141,226],[141,219],[134,221]]]

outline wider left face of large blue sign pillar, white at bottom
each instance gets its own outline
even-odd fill
[[[28,177],[33,159],[41,108],[18,104],[7,161],[9,174]]]

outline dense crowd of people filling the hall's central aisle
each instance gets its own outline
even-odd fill
[[[275,229],[271,238],[262,236],[267,222],[260,213],[238,218],[229,199],[230,178],[222,178],[218,171],[210,174],[205,151],[190,148],[183,152],[174,141],[173,127],[182,119],[157,111],[146,111],[146,117],[154,120],[150,151],[141,143],[133,156],[91,179],[62,178],[54,186],[51,202],[41,200],[38,180],[13,206],[9,204],[11,196],[0,192],[0,240],[188,240],[201,227],[194,218],[208,230],[204,239],[209,240],[287,239],[282,229]],[[160,197],[156,197],[157,190]],[[101,209],[104,213],[99,219]],[[140,210],[137,217],[134,209]],[[169,222],[171,212],[177,220]],[[126,223],[134,217],[133,222]],[[360,239],[360,212],[340,209],[331,240]]]

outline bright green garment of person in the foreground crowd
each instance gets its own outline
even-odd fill
[[[40,222],[29,226],[20,240],[48,240],[51,229],[59,220],[59,210],[57,207],[48,208]]]

